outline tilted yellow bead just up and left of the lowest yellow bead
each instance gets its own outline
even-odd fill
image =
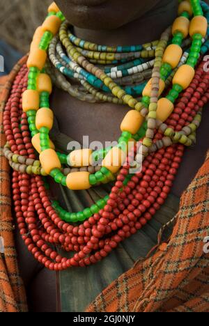
[[[61,169],[61,162],[55,150],[47,149],[40,153],[40,164],[45,173],[50,174],[54,169]]]

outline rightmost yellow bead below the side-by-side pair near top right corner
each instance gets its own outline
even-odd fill
[[[183,89],[186,89],[191,84],[194,75],[195,71],[191,65],[182,65],[180,68],[178,68],[176,74],[173,77],[173,85],[178,84],[182,86]]]

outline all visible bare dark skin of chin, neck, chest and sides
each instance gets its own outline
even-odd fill
[[[177,15],[176,0],[57,0],[75,35],[106,45],[133,45],[159,38]],[[60,130],[82,142],[114,141],[120,135],[119,125],[127,112],[115,104],[88,104],[56,89],[52,108]],[[70,126],[70,127],[69,127]],[[180,196],[194,178],[208,150],[209,111],[203,114],[197,144],[183,158],[173,194]],[[56,188],[54,187],[54,191]],[[56,276],[45,270],[29,254],[16,228],[20,272],[26,285],[31,311],[56,311]],[[27,267],[26,267],[27,266]]]

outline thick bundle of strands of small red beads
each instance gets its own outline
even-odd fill
[[[29,137],[29,126],[26,115],[22,113],[21,95],[26,89],[27,73],[26,66],[23,66],[15,79],[4,111],[3,125],[13,153],[34,160],[36,156]],[[208,100],[209,74],[203,71],[201,63],[167,124],[176,131],[181,130],[191,123]],[[162,137],[157,132],[155,141]],[[127,158],[104,210],[79,226],[67,224],[59,218],[52,208],[42,177],[13,172],[17,223],[26,246],[40,263],[50,270],[97,263],[155,215],[171,190],[184,146],[174,144],[148,155],[142,171],[136,173],[127,186],[123,186],[136,152],[137,148],[134,148]],[[76,254],[72,258],[64,258],[52,249],[52,244]]]

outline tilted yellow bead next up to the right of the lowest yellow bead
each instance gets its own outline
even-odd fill
[[[125,153],[118,147],[109,150],[106,157],[102,161],[102,166],[106,167],[111,173],[116,173],[125,161]]]

